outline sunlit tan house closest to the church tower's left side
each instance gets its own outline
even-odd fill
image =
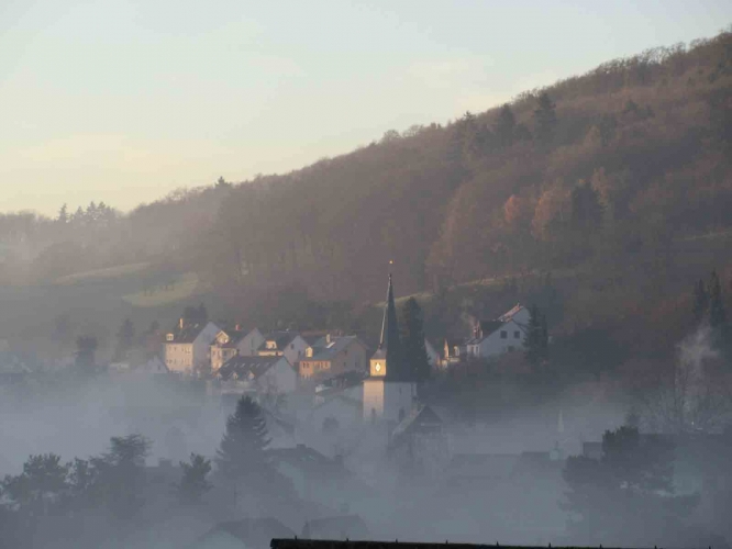
[[[308,346],[299,362],[302,380],[365,369],[366,345],[357,336],[337,337],[329,334]]]

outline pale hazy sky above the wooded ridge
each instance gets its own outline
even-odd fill
[[[287,172],[730,23],[729,0],[1,0],[0,212]]]

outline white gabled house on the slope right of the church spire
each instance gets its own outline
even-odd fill
[[[467,340],[467,354],[474,358],[488,358],[523,348],[529,324],[529,311],[515,305],[493,321],[480,321]]]

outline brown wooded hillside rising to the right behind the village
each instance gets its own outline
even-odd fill
[[[732,32],[291,173],[222,179],[124,215],[104,208],[3,216],[0,277],[196,271],[256,320],[277,295],[382,299],[393,260],[400,294],[551,273],[573,290],[556,317],[567,330],[633,311],[673,317],[692,281],[712,268],[730,278]]]

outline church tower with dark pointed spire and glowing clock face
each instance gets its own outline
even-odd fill
[[[364,381],[364,421],[386,421],[396,425],[412,411],[417,400],[417,383],[401,352],[391,274],[381,321],[381,337],[370,359],[369,374]]]

